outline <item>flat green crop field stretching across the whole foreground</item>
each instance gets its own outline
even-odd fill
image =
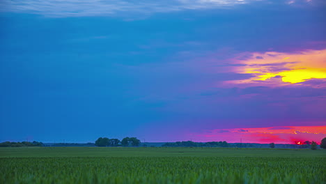
[[[0,183],[326,183],[326,151],[0,148]]]

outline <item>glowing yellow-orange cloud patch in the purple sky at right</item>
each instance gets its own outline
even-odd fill
[[[251,84],[263,82],[277,86],[296,84],[309,79],[326,79],[326,49],[308,50],[297,54],[281,52],[251,53],[247,59],[239,56],[233,72],[251,74],[254,77],[236,81],[231,84]],[[280,78],[280,79],[275,79]]]

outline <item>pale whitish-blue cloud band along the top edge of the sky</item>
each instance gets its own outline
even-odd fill
[[[1,12],[32,13],[48,17],[116,16],[118,13],[133,14],[168,13],[180,10],[203,10],[229,8],[247,3],[275,3],[256,0],[50,0],[50,1],[9,1],[0,2]],[[284,3],[280,1],[281,3]],[[279,2],[277,2],[279,3]],[[123,14],[120,14],[123,15]]]

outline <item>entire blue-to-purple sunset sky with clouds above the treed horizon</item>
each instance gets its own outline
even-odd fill
[[[0,141],[326,137],[322,0],[0,1]]]

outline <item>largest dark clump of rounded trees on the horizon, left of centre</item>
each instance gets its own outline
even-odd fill
[[[95,141],[95,146],[107,147],[107,146],[139,146],[141,141],[137,137],[125,137],[121,141],[119,139],[109,139],[107,137],[99,137]]]

